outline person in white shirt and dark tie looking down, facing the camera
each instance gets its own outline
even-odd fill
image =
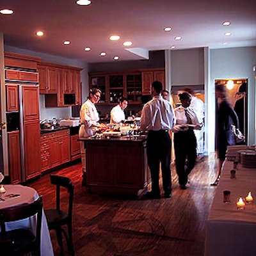
[[[188,175],[196,161],[196,137],[193,129],[201,129],[195,111],[189,108],[191,95],[180,93],[181,106],[175,108],[176,125],[174,132],[175,165],[179,176],[180,189],[186,189]]]

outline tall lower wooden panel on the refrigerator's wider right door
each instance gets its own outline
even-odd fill
[[[39,119],[24,121],[25,180],[40,175],[40,125]]]

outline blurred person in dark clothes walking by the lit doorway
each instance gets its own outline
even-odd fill
[[[218,100],[216,129],[217,129],[217,150],[219,158],[218,176],[211,186],[217,186],[223,162],[226,158],[227,146],[236,145],[236,138],[232,132],[231,125],[239,129],[239,121],[236,112],[232,108],[228,99],[228,91],[225,84],[216,85],[216,97]]]

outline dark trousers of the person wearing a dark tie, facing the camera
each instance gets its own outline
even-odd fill
[[[186,185],[196,161],[196,136],[192,129],[174,134],[174,151],[179,184]]]

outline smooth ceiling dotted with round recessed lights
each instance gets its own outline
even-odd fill
[[[12,15],[0,14],[4,44],[86,63],[114,61],[114,56],[141,60],[148,51],[172,45],[176,50],[256,45],[253,0],[92,0],[89,6],[79,6],[76,0],[1,0],[3,8],[13,10]],[[226,20],[230,26],[222,25]],[[165,32],[166,26],[172,31]],[[38,30],[45,35],[36,36]],[[110,41],[116,34],[120,40]],[[175,36],[182,40],[175,41]],[[65,40],[71,44],[63,45]],[[126,40],[133,44],[124,47]],[[100,56],[102,51],[107,55]]]

